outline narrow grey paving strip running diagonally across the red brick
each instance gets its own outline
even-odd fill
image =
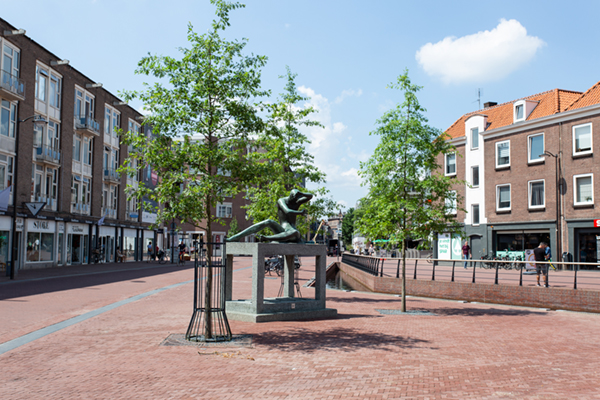
[[[248,269],[248,268],[252,268],[252,267],[251,266],[250,267],[244,267],[244,268],[236,269],[235,271],[241,271],[241,270]],[[48,336],[48,335],[50,335],[50,334],[52,334],[54,332],[58,332],[58,331],[60,331],[62,329],[68,328],[69,326],[78,324],[78,323],[83,322],[85,320],[88,320],[90,318],[94,318],[94,317],[96,317],[96,316],[98,316],[100,314],[103,314],[103,313],[107,312],[107,311],[114,310],[115,308],[121,307],[121,306],[123,306],[125,304],[133,303],[134,301],[141,300],[144,297],[152,296],[153,294],[160,293],[162,291],[169,290],[169,289],[174,289],[176,287],[179,287],[179,286],[182,286],[182,285],[185,285],[185,284],[188,284],[188,283],[193,283],[193,282],[194,282],[194,280],[192,279],[192,280],[189,280],[189,281],[179,282],[179,283],[175,283],[173,285],[169,285],[169,286],[165,286],[165,287],[162,287],[162,288],[154,289],[154,290],[151,290],[151,291],[146,292],[146,293],[141,293],[141,294],[138,294],[136,296],[130,297],[128,299],[117,301],[116,303],[108,304],[108,305],[106,305],[104,307],[100,307],[100,308],[98,308],[96,310],[89,311],[89,312],[87,312],[85,314],[81,314],[81,315],[78,315],[76,317],[64,320],[62,322],[58,322],[58,323],[56,323],[54,325],[49,325],[49,326],[47,326],[45,328],[38,329],[37,331],[33,331],[33,332],[30,332],[30,333],[27,333],[27,334],[25,334],[23,336],[19,336],[16,339],[9,340],[8,342],[0,344],[0,355],[4,354],[6,352],[9,352],[11,350],[14,350],[14,349],[16,349],[18,347],[21,347],[21,346],[23,346],[23,345],[25,345],[27,343],[31,343],[34,340],[43,338],[44,336]]]

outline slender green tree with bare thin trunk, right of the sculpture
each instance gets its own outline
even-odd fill
[[[440,171],[440,159],[456,149],[439,129],[427,125],[425,109],[408,71],[388,86],[404,94],[404,102],[377,121],[371,135],[379,144],[361,163],[360,175],[369,186],[355,227],[375,239],[389,239],[402,249],[402,312],[406,311],[406,246],[408,239],[426,239],[436,232],[460,232],[450,204],[460,204],[453,186],[461,183]],[[450,201],[448,201],[450,200]],[[452,201],[454,200],[454,201]]]

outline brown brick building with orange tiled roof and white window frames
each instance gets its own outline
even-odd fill
[[[554,89],[484,106],[446,130],[458,154],[440,160],[446,176],[468,183],[456,185],[466,212],[455,212],[473,258],[524,255],[545,241],[554,260],[568,252],[597,262],[600,82],[584,93]],[[459,259],[460,239],[440,239],[451,250],[439,257]]]

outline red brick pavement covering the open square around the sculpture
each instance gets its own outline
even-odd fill
[[[234,265],[234,298],[249,296],[247,263]],[[300,277],[311,276],[305,262]],[[86,296],[122,297],[133,280],[10,300],[77,309],[72,292],[89,307]],[[265,286],[274,295],[279,280]],[[252,347],[196,348],[160,346],[185,332],[192,305],[191,284],[163,291],[1,355],[0,398],[600,399],[600,315],[422,298],[408,308],[434,316],[381,315],[375,310],[399,308],[397,297],[327,294],[336,319],[232,321],[234,334],[253,335]],[[0,320],[15,303],[0,301]]]

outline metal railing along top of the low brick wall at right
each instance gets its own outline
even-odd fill
[[[374,276],[400,277],[401,258],[342,255],[342,262]],[[465,262],[467,268],[464,268]],[[457,268],[458,266],[458,268]],[[436,258],[407,258],[407,277],[410,279],[449,282],[493,283],[524,286],[529,275],[547,274],[551,286],[600,290],[600,264],[589,262],[521,261],[521,260],[442,260]],[[537,281],[537,279],[536,279]],[[529,282],[535,284],[536,282]],[[541,284],[545,279],[540,280]]]

